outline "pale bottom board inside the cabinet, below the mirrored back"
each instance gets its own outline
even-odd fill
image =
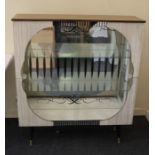
[[[106,120],[116,115],[123,106],[119,98],[102,98],[101,102],[96,98],[87,98],[85,101],[88,103],[79,99],[79,104],[70,104],[67,99],[55,99],[54,102],[49,100],[28,99],[28,104],[36,115],[48,121]]]

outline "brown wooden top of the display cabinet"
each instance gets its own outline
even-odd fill
[[[145,23],[135,16],[116,15],[65,15],[65,14],[16,14],[12,21],[57,21],[57,20],[89,20],[105,22]]]

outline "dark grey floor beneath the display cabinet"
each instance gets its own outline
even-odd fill
[[[58,133],[59,131],[59,133]],[[116,143],[112,126],[39,127],[33,145],[28,145],[28,128],[19,128],[17,119],[6,119],[6,155],[148,155],[149,125],[135,117],[133,125],[121,127]]]

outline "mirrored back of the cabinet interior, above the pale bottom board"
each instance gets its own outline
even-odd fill
[[[120,97],[129,90],[131,49],[104,22],[56,21],[27,45],[22,74],[28,97]]]

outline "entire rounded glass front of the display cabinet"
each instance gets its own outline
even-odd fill
[[[28,43],[23,88],[43,119],[104,120],[125,103],[132,70],[129,43],[118,31],[102,22],[58,21]]]

